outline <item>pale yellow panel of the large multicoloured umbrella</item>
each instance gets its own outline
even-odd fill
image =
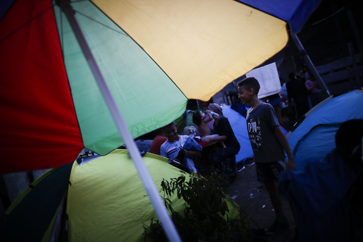
[[[93,0],[187,98],[208,101],[285,47],[286,22],[233,0]]]

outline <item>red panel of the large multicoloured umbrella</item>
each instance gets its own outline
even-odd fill
[[[52,2],[15,1],[0,40],[0,173],[73,161],[84,145]]]

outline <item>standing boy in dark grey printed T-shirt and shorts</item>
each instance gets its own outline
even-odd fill
[[[289,142],[281,131],[276,113],[268,103],[262,103],[258,97],[260,84],[254,77],[248,77],[238,82],[238,93],[243,104],[249,103],[251,108],[247,111],[247,131],[253,150],[253,159],[256,162],[257,180],[264,183],[270,194],[270,200],[276,213],[273,225],[265,229],[274,233],[288,229],[282,198],[278,195],[277,182],[280,173],[286,168],[285,152],[289,157],[287,168],[295,171],[295,160]]]

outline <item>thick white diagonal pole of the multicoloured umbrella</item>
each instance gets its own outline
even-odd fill
[[[87,63],[92,71],[92,74],[97,82],[99,90],[102,93],[103,98],[107,104],[107,107],[110,110],[112,118],[116,124],[116,127],[125,141],[127,149],[129,149],[129,154],[131,156],[132,161],[134,161],[136,170],[139,173],[140,179],[150,197],[152,205],[154,205],[156,214],[163,225],[164,232],[169,241],[181,242],[178,231],[174,226],[171,217],[164,206],[162,199],[160,198],[160,194],[156,189],[154,181],[152,180],[150,173],[148,172],[146,165],[144,164],[142,157],[136,145],[134,143],[134,139],[131,136],[129,129],[127,128],[127,124],[123,119],[120,110],[117,107],[117,104],[114,98],[111,95],[110,89],[107,87],[105,79],[102,76],[101,70],[99,69],[91,49],[89,48],[86,38],[83,36],[82,30],[78,25],[77,19],[74,16],[73,8],[70,5],[69,0],[60,0],[57,2],[57,5],[61,7],[62,11],[65,13],[67,20],[73,30],[74,35],[77,38],[78,44],[82,49],[83,55],[85,56]]]

